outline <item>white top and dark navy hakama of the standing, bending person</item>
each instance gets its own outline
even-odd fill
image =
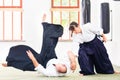
[[[97,37],[97,35],[102,35],[103,30],[91,23],[83,25],[81,29],[82,33],[73,34],[73,45],[79,44],[80,73],[84,75],[95,74],[94,67],[97,73],[114,73],[107,50],[103,42]]]

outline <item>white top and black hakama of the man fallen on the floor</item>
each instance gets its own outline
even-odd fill
[[[70,71],[70,62],[60,61],[57,59],[55,47],[58,37],[63,34],[63,27],[58,24],[50,24],[43,22],[43,44],[40,54],[27,45],[17,45],[10,48],[7,56],[8,66],[21,69],[23,71],[37,70],[46,76],[63,76]],[[37,61],[40,63],[38,67],[34,67],[29,59],[26,51],[30,50]],[[54,64],[63,63],[67,67],[67,72],[60,74],[56,71]],[[51,70],[51,71],[50,71]]]

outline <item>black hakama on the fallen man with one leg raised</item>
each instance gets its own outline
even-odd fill
[[[57,58],[55,47],[58,37],[63,34],[63,27],[58,24],[42,23],[43,25],[43,43],[40,54],[27,45],[16,45],[10,48],[6,58],[7,65],[23,71],[34,71],[34,65],[29,59],[26,51],[30,50],[37,61],[46,67],[47,62],[52,58]]]

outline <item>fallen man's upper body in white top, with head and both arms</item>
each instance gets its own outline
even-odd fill
[[[75,56],[70,52],[68,52],[70,62],[67,60],[63,61],[53,58],[48,61],[46,68],[44,68],[41,64],[38,63],[30,50],[26,52],[29,58],[32,60],[35,66],[35,70],[46,76],[64,76],[70,73],[71,70],[75,70],[76,68]]]

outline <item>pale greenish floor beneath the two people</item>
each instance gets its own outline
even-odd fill
[[[120,67],[114,66],[116,71]],[[13,67],[2,67],[0,65],[0,80],[120,80],[120,74],[96,74],[79,76],[79,67],[74,73],[65,77],[45,77],[37,72],[21,71]]]

